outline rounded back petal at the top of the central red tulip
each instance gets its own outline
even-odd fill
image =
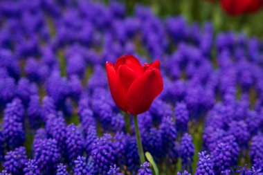
[[[119,57],[115,64],[115,71],[118,72],[120,65],[127,65],[129,68],[134,70],[138,75],[143,73],[143,66],[140,65],[140,62],[133,55],[123,55]]]

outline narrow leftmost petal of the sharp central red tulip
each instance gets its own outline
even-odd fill
[[[106,63],[106,71],[109,82],[109,91],[111,91],[111,96],[114,99],[116,105],[123,110],[123,105],[121,105],[120,98],[118,97],[118,79],[114,65],[110,62]]]

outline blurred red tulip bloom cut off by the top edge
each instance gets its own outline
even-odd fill
[[[221,6],[228,15],[243,15],[256,12],[262,7],[263,0],[221,0]]]

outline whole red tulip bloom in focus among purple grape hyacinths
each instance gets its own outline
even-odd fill
[[[133,55],[118,58],[115,66],[107,62],[109,90],[116,105],[132,115],[147,111],[163,91],[159,68],[158,59],[142,66]]]

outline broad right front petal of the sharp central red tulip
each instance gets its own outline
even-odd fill
[[[149,109],[153,100],[163,91],[163,79],[157,68],[151,68],[138,77],[129,88],[129,113],[137,115]]]

